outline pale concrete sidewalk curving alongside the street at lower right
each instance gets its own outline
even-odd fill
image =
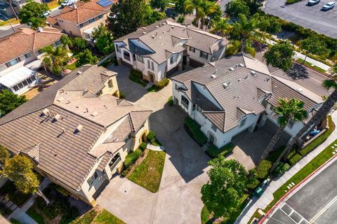
[[[333,123],[337,124],[337,111],[333,112],[332,115]],[[277,189],[279,189],[281,186],[286,183],[293,175],[295,175],[300,169],[305,167],[305,165],[308,164],[313,158],[315,158],[319,153],[321,153],[326,147],[328,147],[333,141],[337,139],[337,129],[335,129],[332,134],[322,143],[320,146],[318,146],[315,151],[312,151],[309,153],[305,158],[300,160],[295,166],[291,167],[289,171],[287,171],[281,178],[277,179],[276,181],[271,181],[270,185],[267,186],[265,189],[265,192],[261,197],[254,196],[251,201],[246,205],[244,210],[242,211],[242,214],[237,218],[237,221],[235,221],[235,224],[239,223],[248,223],[249,219],[253,214],[255,213],[256,209],[265,209],[270,202],[274,199],[273,193]]]

